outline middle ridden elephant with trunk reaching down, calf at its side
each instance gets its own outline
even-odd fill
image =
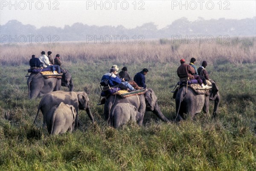
[[[121,96],[109,96],[104,104],[104,119],[110,122],[111,108],[119,103],[129,103],[136,107],[137,115],[136,120],[138,125],[143,124],[143,118],[145,111],[152,111],[158,118],[164,122],[170,122],[161,112],[160,107],[157,104],[157,96],[151,88],[147,88],[146,93],[141,95],[129,96],[122,98]]]

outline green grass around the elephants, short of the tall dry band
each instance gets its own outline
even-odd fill
[[[149,69],[146,84],[158,98],[163,114],[176,116],[170,92],[178,78],[178,64],[144,62],[127,66],[131,76]],[[99,101],[99,81],[113,61],[70,64],[75,91],[86,91],[96,124],[79,111],[81,127],[74,133],[49,136],[41,128],[42,116],[33,125],[40,99],[29,100],[26,68],[23,74],[3,75],[0,87],[1,171],[253,171],[256,170],[255,63],[209,65],[210,78],[218,83],[221,102],[218,116],[199,113],[193,121],[166,124],[146,112],[143,126],[134,123],[113,129],[104,121]],[[199,66],[198,66],[199,67]],[[254,69],[254,70],[253,70]],[[14,72],[13,72],[14,73]],[[66,87],[62,90],[68,91]]]

